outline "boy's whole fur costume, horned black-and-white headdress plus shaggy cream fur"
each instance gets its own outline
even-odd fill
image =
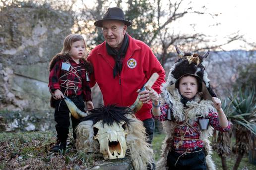
[[[167,156],[171,151],[174,140],[174,132],[177,127],[177,122],[186,121],[186,117],[189,120],[189,124],[193,125],[194,121],[198,117],[207,117],[209,112],[216,112],[211,101],[212,96],[216,94],[211,89],[209,84],[210,80],[207,78],[207,73],[203,66],[203,59],[207,57],[209,51],[200,56],[198,54],[192,53],[183,53],[176,46],[176,50],[180,59],[171,67],[168,80],[162,86],[162,103],[168,104],[169,108],[172,109],[173,117],[175,120],[164,121],[163,129],[165,131],[166,138],[163,141],[161,158],[156,164],[157,170],[167,170]],[[192,75],[199,78],[202,83],[202,92],[198,95],[196,94],[195,98],[192,101],[187,103],[187,107],[184,107],[184,104],[181,102],[181,94],[179,90],[175,87],[175,84],[179,81],[184,75]],[[203,99],[201,99],[203,98]],[[200,130],[199,139],[203,141],[204,148],[207,152],[206,164],[207,169],[215,170],[215,165],[211,159],[212,149],[210,146],[210,141],[208,138],[213,133],[213,127],[209,125],[207,130]]]

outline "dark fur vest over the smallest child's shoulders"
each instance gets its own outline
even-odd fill
[[[49,72],[51,72],[51,70],[53,69],[53,67],[54,67],[54,65],[56,64],[57,61],[59,61],[59,60],[66,61],[68,59],[71,59],[71,56],[69,54],[57,54],[57,55],[55,55],[49,63]],[[84,62],[85,69],[88,71],[89,74],[91,74],[93,72],[92,65],[85,58],[81,58],[81,60],[83,60],[83,62]],[[55,100],[51,96],[51,99],[50,99],[51,107],[55,108],[56,101],[57,100]]]

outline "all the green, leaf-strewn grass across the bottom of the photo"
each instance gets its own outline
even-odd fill
[[[3,132],[0,133],[0,170],[79,170],[88,169],[96,165],[97,161],[90,154],[77,153],[69,146],[64,153],[54,153],[51,147],[56,141],[56,133],[46,132]],[[153,149],[155,160],[159,160],[162,141],[165,134],[155,134]],[[236,155],[227,158],[227,165],[232,170]],[[213,153],[213,160],[218,170],[221,168],[221,160]],[[247,167],[256,170],[256,166],[248,162],[248,156],[244,157],[239,170]]]

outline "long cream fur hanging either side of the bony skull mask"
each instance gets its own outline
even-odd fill
[[[126,129],[126,144],[128,147],[127,155],[130,156],[133,168],[135,170],[147,170],[147,167],[152,167],[154,162],[154,153],[151,145],[148,144],[146,138],[146,130],[143,123],[136,119],[135,116],[128,115],[131,119],[128,128]],[[93,122],[83,121],[77,128],[77,139],[75,146],[78,152],[100,153],[99,143],[93,139]]]

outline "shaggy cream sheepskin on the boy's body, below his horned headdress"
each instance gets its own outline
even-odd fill
[[[173,116],[177,122],[185,121],[184,113],[188,115],[189,123],[193,124],[197,117],[207,117],[210,111],[215,111],[215,108],[212,106],[212,101],[210,100],[200,100],[198,95],[195,96],[193,101],[187,103],[188,108],[185,109],[183,103],[181,103],[181,95],[178,89],[168,91],[167,84],[162,88],[163,101],[167,103],[169,107],[173,110]],[[164,121],[163,129],[167,134],[162,145],[162,153],[160,160],[156,163],[157,170],[168,170],[167,167],[167,156],[171,151],[174,138],[174,129],[178,125],[176,121]],[[207,151],[206,164],[207,169],[215,170],[215,165],[211,159],[212,149],[210,146],[210,141],[208,138],[213,133],[213,127],[209,125],[207,130],[200,131],[200,140],[203,141],[205,149]]]

